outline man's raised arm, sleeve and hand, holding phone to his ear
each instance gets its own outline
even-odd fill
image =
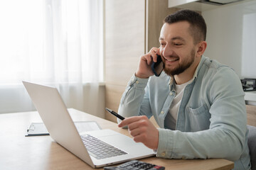
[[[146,55],[140,57],[137,71],[130,79],[122,95],[118,109],[120,115],[124,117],[134,115],[147,115],[148,118],[151,117],[146,84],[149,77],[154,75],[151,70],[151,64],[156,62],[156,55],[159,55],[159,48],[153,47]],[[118,123],[120,122],[118,119],[117,121]]]

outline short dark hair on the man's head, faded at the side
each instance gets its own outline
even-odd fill
[[[164,23],[177,23],[180,21],[187,21],[190,23],[190,33],[193,36],[194,43],[206,40],[206,21],[200,13],[188,9],[181,9],[166,16]]]

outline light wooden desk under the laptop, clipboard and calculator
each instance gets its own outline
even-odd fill
[[[117,128],[112,123],[93,115],[69,109],[74,121],[95,120],[102,129],[112,129],[129,135],[127,130]],[[50,136],[25,137],[30,123],[42,122],[37,112],[0,114],[0,169],[92,169],[52,140]],[[141,159],[151,164],[159,164],[168,169],[233,169],[233,162],[225,159],[161,159],[149,157]]]

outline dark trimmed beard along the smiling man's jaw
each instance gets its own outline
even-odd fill
[[[195,60],[195,55],[196,55],[196,52],[194,49],[192,49],[190,55],[188,56],[188,59],[185,62],[178,64],[178,67],[176,67],[174,69],[166,68],[165,63],[163,62],[164,63],[163,64],[164,72],[169,76],[181,74],[186,69],[191,67],[191,65],[193,64],[193,62]]]

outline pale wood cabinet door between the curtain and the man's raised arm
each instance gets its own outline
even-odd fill
[[[145,0],[105,1],[105,106],[114,111],[145,52],[145,6]]]

